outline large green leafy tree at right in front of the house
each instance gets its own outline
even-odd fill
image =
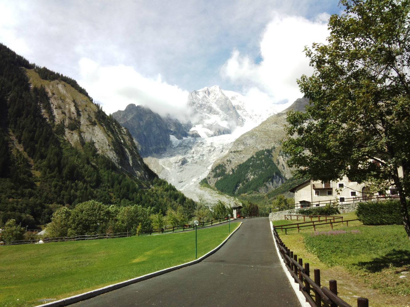
[[[305,48],[314,73],[298,84],[310,106],[288,113],[288,164],[315,180],[346,175],[396,188],[410,239],[410,1],[340,5],[344,14],[330,17],[328,44]]]

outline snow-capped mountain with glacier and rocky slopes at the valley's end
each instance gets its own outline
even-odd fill
[[[284,183],[292,176],[286,165],[287,157],[280,150],[280,140],[285,136],[283,125],[286,111],[303,110],[307,102],[307,99],[302,98],[293,104],[255,109],[257,103],[249,101],[248,97],[212,86],[190,93],[187,102],[189,112],[185,123],[173,120],[183,133],[176,134],[171,131],[166,119],[150,111],[147,106],[129,105],[124,111],[115,112],[113,116],[130,130],[138,144],[147,141],[160,144],[157,146],[160,150],[140,151],[143,153],[144,162],[160,178],[169,181],[194,200],[213,203],[220,199],[233,203],[239,195],[218,189],[215,183],[221,177],[214,176],[212,170],[218,165],[224,165],[227,173],[230,173],[232,168],[250,159],[257,151],[265,150],[270,151],[269,159],[274,163],[266,167],[266,171],[245,174],[244,176],[249,178],[242,178],[241,181],[260,177],[248,184],[253,186],[255,192],[260,193],[268,193]],[[124,120],[136,118],[136,115],[132,114],[135,114],[137,109],[140,113],[150,112],[150,115],[135,122]],[[168,122],[171,121],[168,118]],[[141,128],[142,126],[144,128]],[[162,128],[157,128],[159,126]],[[151,148],[157,147],[154,145]],[[230,181],[228,177],[229,174],[226,174],[224,180]],[[262,180],[262,177],[267,179]],[[211,189],[201,184],[204,178]],[[260,180],[263,182],[255,187],[255,182]]]

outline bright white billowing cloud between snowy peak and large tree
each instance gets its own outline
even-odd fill
[[[293,102],[302,97],[296,79],[313,72],[304,46],[326,43],[328,17],[322,13],[312,22],[301,16],[275,14],[260,42],[262,61],[255,64],[248,55],[233,50],[221,75],[232,83],[240,83],[247,96],[264,95],[262,101],[269,97],[273,103]]]

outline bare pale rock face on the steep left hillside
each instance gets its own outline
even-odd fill
[[[81,148],[84,141],[93,144],[93,147],[116,165],[141,181],[149,180],[152,172],[139,156],[137,146],[127,129],[64,81],[43,80],[34,69],[26,69],[26,74],[32,86],[44,86],[46,89],[51,116],[55,124],[62,124],[61,133],[74,147]],[[43,111],[43,115],[47,118],[50,116],[46,111]]]

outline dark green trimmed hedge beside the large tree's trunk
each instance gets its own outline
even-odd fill
[[[403,225],[398,200],[359,203],[356,215],[364,225]]]

